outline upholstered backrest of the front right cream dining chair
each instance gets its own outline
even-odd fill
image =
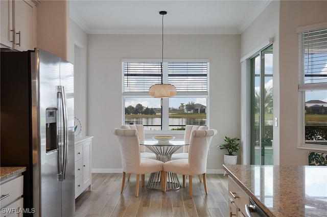
[[[215,134],[217,134],[216,129],[193,130],[189,148],[189,165],[192,174],[206,172],[208,149]]]

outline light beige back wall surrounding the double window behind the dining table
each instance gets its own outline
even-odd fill
[[[240,35],[165,35],[166,58],[210,60],[208,173],[223,173],[225,135],[240,137]],[[161,57],[160,35],[88,36],[88,133],[94,135],[95,172],[121,171],[120,150],[111,130],[122,125],[122,58]],[[146,135],[151,138],[153,135]],[[181,137],[181,135],[177,135]]]

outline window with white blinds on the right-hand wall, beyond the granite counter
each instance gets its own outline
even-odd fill
[[[327,150],[327,23],[303,26],[299,34],[301,144]],[[321,26],[320,28],[317,26]]]

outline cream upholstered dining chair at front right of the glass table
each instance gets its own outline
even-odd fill
[[[189,175],[190,197],[192,198],[192,176],[202,175],[204,191],[205,194],[207,194],[205,179],[207,153],[209,145],[215,134],[217,134],[216,129],[193,130],[189,147],[189,158],[165,162],[164,172],[162,172],[163,180],[167,180],[167,172],[182,174],[183,187],[185,187],[185,175]],[[167,181],[164,181],[164,185],[162,187],[164,188],[164,192],[166,192]]]

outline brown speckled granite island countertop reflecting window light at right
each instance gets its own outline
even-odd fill
[[[223,166],[269,216],[327,216],[327,167]]]

